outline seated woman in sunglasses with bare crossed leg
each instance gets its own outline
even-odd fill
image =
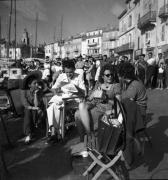
[[[80,141],[84,141],[85,132],[90,133],[93,126],[104,114],[111,114],[113,98],[120,99],[121,88],[118,83],[115,68],[106,64],[101,68],[99,82],[85,102],[79,104],[79,111],[75,114]]]

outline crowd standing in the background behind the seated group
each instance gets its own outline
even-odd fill
[[[53,84],[59,73],[63,71],[62,62],[68,61],[68,58],[63,60],[46,60],[44,64],[43,79],[47,79]],[[141,54],[136,60],[128,59],[127,56],[112,56],[99,55],[97,57],[88,56],[83,58],[79,56],[73,59],[76,72],[84,74],[84,80],[88,90],[93,89],[96,81],[98,81],[101,67],[108,63],[116,68],[123,62],[130,62],[135,67],[135,75],[143,82],[146,88],[168,88],[168,60],[164,59],[162,53],[158,57],[153,57],[153,54]],[[27,68],[27,71],[37,70],[40,68],[38,62],[32,62]],[[49,78],[48,78],[49,76]]]

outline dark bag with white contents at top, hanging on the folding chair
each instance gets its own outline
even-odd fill
[[[112,115],[103,115],[98,125],[98,151],[106,155],[115,155],[122,145],[122,126]]]

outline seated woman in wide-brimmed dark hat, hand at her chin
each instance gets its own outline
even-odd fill
[[[34,120],[39,121],[44,116],[43,92],[38,84],[41,77],[42,73],[40,71],[33,71],[23,80],[24,91],[22,91],[21,99],[24,106],[25,143],[31,141]]]

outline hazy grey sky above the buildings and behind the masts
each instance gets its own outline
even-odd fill
[[[14,1],[14,0],[13,0]],[[125,9],[125,0],[16,0],[17,42],[24,28],[31,43],[35,42],[35,19],[38,14],[38,43],[52,43],[61,36],[67,38],[77,33],[105,27],[118,27],[118,15]],[[14,7],[14,5],[13,5]],[[2,37],[7,38],[10,0],[0,0]],[[11,39],[14,39],[14,10]]]

